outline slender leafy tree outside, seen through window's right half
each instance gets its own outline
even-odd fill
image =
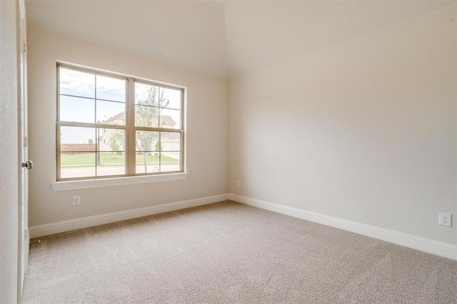
[[[161,92],[160,92],[161,91]],[[142,99],[137,101],[138,104],[145,106],[135,107],[135,125],[142,127],[157,127],[159,122],[159,115],[162,111],[162,107],[166,107],[169,104],[169,100],[163,97],[164,90],[159,90],[158,87],[150,87],[148,92],[143,96]],[[160,126],[163,126],[163,122]],[[154,143],[154,147],[152,144]],[[160,150],[161,143],[159,140],[159,132],[151,131],[138,131],[136,132],[136,150],[143,151],[143,164],[145,166],[145,172],[147,172],[147,151]],[[156,153],[157,155],[157,153]]]

